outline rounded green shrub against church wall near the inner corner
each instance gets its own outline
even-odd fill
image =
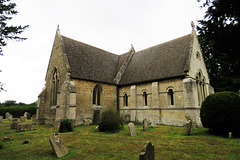
[[[116,132],[123,127],[123,118],[114,109],[104,110],[101,114],[99,131]]]

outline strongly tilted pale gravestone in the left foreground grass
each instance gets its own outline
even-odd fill
[[[52,134],[49,137],[50,144],[53,148],[53,151],[57,155],[58,158],[65,156],[68,154],[68,149],[63,143],[62,138],[58,134]]]

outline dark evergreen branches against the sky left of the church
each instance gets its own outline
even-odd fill
[[[17,15],[15,10],[16,4],[11,3],[10,0],[0,0],[0,55],[2,53],[2,47],[6,46],[6,40],[26,40],[17,36],[21,34],[29,26],[13,26],[7,25],[7,22],[12,19],[13,15]],[[0,82],[0,92],[3,90],[3,84]]]

